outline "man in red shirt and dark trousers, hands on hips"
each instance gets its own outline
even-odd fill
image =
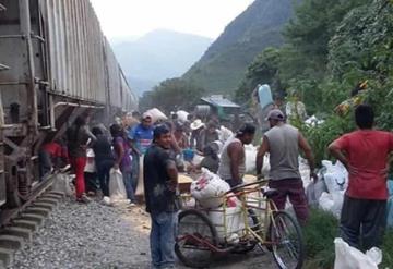
[[[359,130],[334,140],[330,152],[349,172],[344,197],[340,233],[350,246],[369,249],[382,243],[386,224],[386,187],[389,155],[393,151],[393,133],[373,130],[374,113],[370,106],[355,110]]]

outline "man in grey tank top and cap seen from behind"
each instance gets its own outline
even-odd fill
[[[309,217],[309,208],[299,172],[298,158],[300,148],[309,162],[311,178],[315,180],[311,147],[296,127],[285,122],[284,113],[279,109],[271,110],[266,120],[271,130],[264,134],[257,155],[257,173],[261,174],[263,157],[270,152],[269,186],[278,191],[273,200],[278,209],[284,209],[287,197],[289,197],[299,222],[303,224]]]

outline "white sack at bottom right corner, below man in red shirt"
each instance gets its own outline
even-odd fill
[[[382,250],[377,247],[364,254],[342,239],[335,239],[334,244],[334,269],[378,269],[378,265],[382,261]]]

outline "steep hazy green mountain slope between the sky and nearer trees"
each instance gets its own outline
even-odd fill
[[[254,57],[283,44],[281,32],[293,13],[294,0],[255,0],[227,25],[183,78],[210,93],[233,94]]]

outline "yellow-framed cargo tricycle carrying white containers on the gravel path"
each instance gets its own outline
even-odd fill
[[[305,247],[300,227],[277,209],[272,200],[277,191],[262,188],[266,183],[260,180],[231,188],[221,197],[219,209],[206,210],[198,204],[183,209],[175,245],[180,261],[205,268],[217,254],[248,253],[265,246],[279,268],[301,268]],[[238,205],[228,207],[235,198]]]

